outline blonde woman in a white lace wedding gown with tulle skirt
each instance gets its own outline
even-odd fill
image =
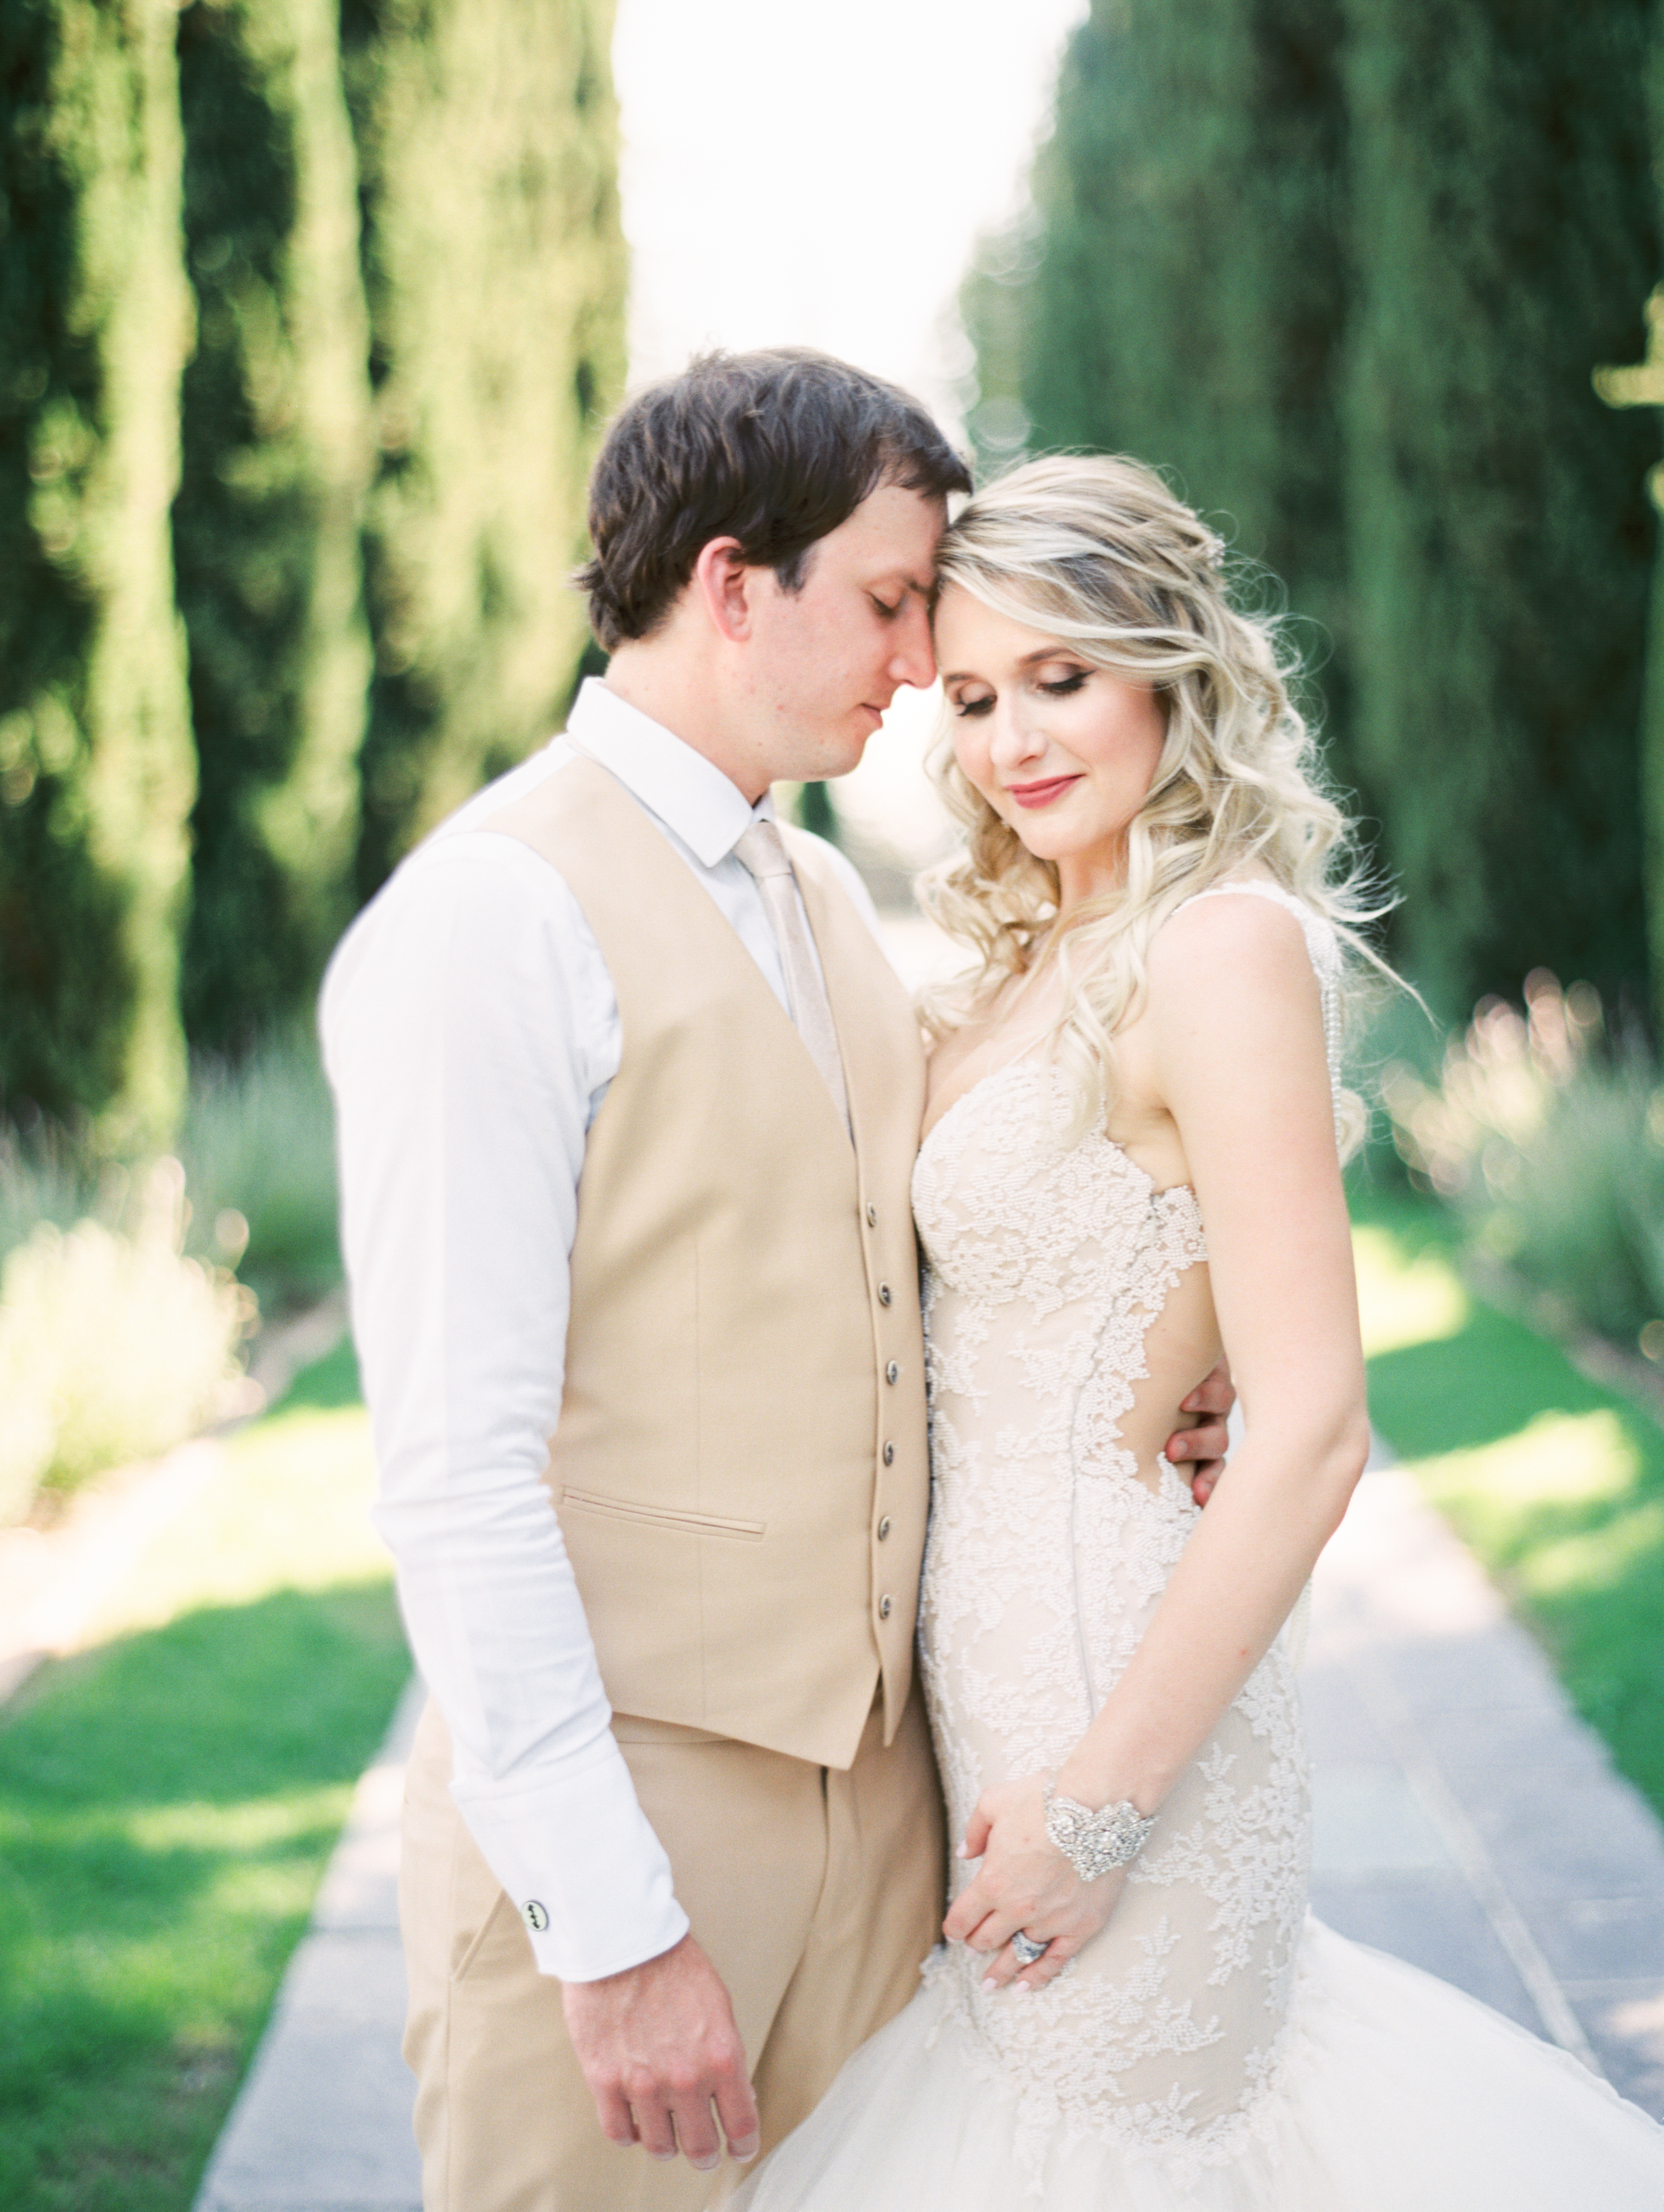
[[[936,653],[980,967],[914,1177],[921,1648],[960,1838],[923,1989],[748,2212],[1657,2212],[1664,2130],[1310,1920],[1279,1641],[1363,1469],[1341,1004],[1363,894],[1272,624],[1148,469],[949,529]],[[1206,1511],[1162,1455],[1228,1352]]]

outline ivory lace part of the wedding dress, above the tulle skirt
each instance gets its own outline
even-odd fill
[[[1228,889],[1299,914],[1334,1077],[1332,933],[1270,885],[1199,896]],[[1064,1150],[1055,1086],[1044,1057],[985,1077],[914,1170],[932,1422],[921,1661],[954,1834],[989,1783],[1073,1750],[1197,1517],[1129,1429],[1153,1363],[1184,1356],[1168,1316],[1206,1307],[1197,1201],[1157,1190],[1102,1133]],[[1182,2166],[1237,2154],[1286,2055],[1306,1871],[1306,1756],[1272,1648],[1162,1807],[1109,1927],[1053,1984],[987,1995],[960,1947],[927,1969],[1036,2157],[1055,2128]]]

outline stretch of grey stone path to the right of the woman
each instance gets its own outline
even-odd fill
[[[1664,1829],[1396,1467],[1323,1555],[1312,1907],[1664,2119]]]

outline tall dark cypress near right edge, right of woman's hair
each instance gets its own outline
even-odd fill
[[[1591,389],[1657,272],[1651,0],[1348,0],[1356,743],[1445,1013],[1644,978],[1655,431]]]

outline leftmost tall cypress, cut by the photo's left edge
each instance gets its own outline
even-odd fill
[[[193,801],[170,0],[0,0],[0,1073],[157,1144]]]

